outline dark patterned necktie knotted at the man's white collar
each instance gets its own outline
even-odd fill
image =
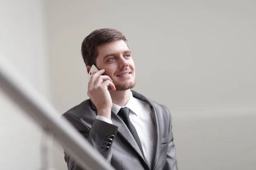
[[[125,108],[121,108],[120,111],[117,113],[117,115],[119,115],[123,118],[123,121],[124,121],[125,125],[130,130],[132,136],[134,137],[135,141],[137,142],[138,146],[140,147],[140,151],[143,155],[143,158],[145,159],[143,149],[142,149],[142,146],[141,146],[141,143],[140,143],[140,138],[138,136],[138,133],[137,133],[134,125],[131,123],[131,120],[129,118],[129,113],[130,113],[130,109],[125,107]]]

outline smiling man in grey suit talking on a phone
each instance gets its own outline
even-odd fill
[[[166,106],[131,91],[135,66],[125,36],[115,29],[91,32],[81,45],[90,99],[63,114],[116,170],[177,170]],[[64,152],[65,153],[65,152]],[[81,167],[65,153],[68,170]]]

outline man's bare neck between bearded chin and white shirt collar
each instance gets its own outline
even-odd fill
[[[126,90],[126,91],[109,91],[110,95],[111,95],[111,99],[112,102],[116,105],[119,106],[124,106],[126,105],[126,103],[128,102],[128,100],[130,99],[131,96],[131,91],[130,89]]]

